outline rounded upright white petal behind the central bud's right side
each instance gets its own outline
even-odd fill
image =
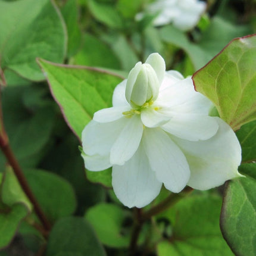
[[[150,54],[145,63],[150,64],[151,67],[154,68],[158,81],[161,84],[166,71],[166,63],[164,62],[163,57],[158,53]]]

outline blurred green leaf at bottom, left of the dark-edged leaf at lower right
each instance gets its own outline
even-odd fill
[[[172,235],[158,243],[158,256],[233,255],[220,232],[220,208],[219,196],[194,195],[161,214],[172,224]]]

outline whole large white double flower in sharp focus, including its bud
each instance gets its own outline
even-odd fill
[[[222,185],[239,176],[241,146],[210,108],[191,77],[166,72],[163,58],[151,54],[117,85],[113,107],[96,112],[83,130],[85,167],[112,166],[114,192],[128,207],[149,204],[162,184],[176,193]]]

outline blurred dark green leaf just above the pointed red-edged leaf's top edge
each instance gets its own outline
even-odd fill
[[[72,64],[120,69],[110,46],[89,34],[84,36],[83,48],[73,57]]]

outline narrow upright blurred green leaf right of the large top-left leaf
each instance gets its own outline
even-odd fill
[[[67,26],[67,55],[68,57],[73,56],[78,51],[82,42],[82,33],[79,27],[78,9],[76,0],[69,0],[65,3],[64,7],[61,8],[61,14],[65,20]]]

